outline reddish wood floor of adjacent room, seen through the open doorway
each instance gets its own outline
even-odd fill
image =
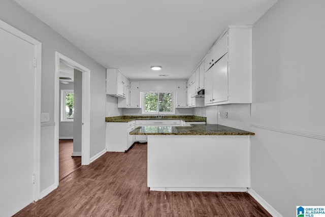
[[[81,157],[71,157],[73,139],[59,140],[59,180],[81,166]]]

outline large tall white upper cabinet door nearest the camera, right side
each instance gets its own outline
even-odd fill
[[[228,100],[228,54],[213,66],[213,102]]]

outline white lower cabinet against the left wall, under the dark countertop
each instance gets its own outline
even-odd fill
[[[106,150],[126,151],[135,142],[136,137],[129,132],[136,128],[136,122],[106,122]]]

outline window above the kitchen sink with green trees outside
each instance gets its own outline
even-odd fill
[[[143,114],[175,114],[173,92],[144,92]]]

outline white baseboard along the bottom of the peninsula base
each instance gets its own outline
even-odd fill
[[[157,192],[247,192],[247,188],[170,188],[150,187],[150,191]]]

